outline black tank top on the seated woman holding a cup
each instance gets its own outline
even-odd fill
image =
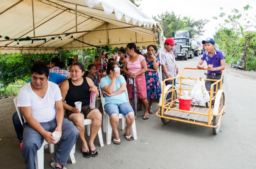
[[[88,106],[90,104],[90,87],[86,78],[83,77],[83,80],[84,82],[81,85],[75,86],[71,82],[71,78],[68,79],[69,89],[66,94],[66,104],[72,107],[75,107],[76,101],[82,102],[82,106]]]

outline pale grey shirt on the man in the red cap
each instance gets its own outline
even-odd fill
[[[169,53],[165,48],[162,48],[160,64],[166,66],[169,76],[171,76],[172,78],[176,76],[177,65],[172,52]],[[166,79],[166,75],[163,72],[162,72],[162,78],[163,78],[162,80]]]

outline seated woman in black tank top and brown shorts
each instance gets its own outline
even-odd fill
[[[71,78],[64,81],[61,86],[62,103],[66,110],[66,117],[74,122],[74,125],[79,130],[79,138],[82,141],[82,153],[84,157],[95,157],[98,155],[94,146],[94,139],[102,124],[102,114],[97,108],[90,109],[90,95],[96,92],[96,97],[99,96],[97,87],[90,78],[84,77],[84,65],[74,63],[71,65]],[[65,103],[66,101],[66,103]],[[75,102],[82,102],[81,111],[75,107]],[[84,138],[84,118],[92,120],[91,135],[88,143]]]

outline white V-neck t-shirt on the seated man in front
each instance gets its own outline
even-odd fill
[[[48,89],[44,98],[40,98],[31,88],[30,82],[21,88],[18,93],[17,106],[31,107],[32,116],[38,122],[51,121],[56,117],[55,101],[62,100],[60,88],[57,84],[48,81]]]

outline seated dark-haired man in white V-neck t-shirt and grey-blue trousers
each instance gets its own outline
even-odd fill
[[[46,64],[36,62],[31,68],[32,81],[18,93],[17,106],[25,118],[22,156],[28,169],[35,169],[35,153],[44,139],[55,143],[53,131],[62,133],[61,143],[53,155],[54,166],[62,169],[78,137],[77,128],[64,119],[62,95],[57,84],[49,82]],[[53,164],[52,164],[53,165]]]

